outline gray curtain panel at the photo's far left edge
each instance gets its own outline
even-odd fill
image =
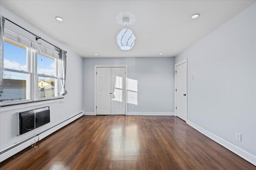
[[[4,76],[4,22],[5,18],[0,16],[0,85],[2,84]]]

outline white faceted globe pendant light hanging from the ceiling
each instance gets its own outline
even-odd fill
[[[126,28],[126,25],[129,23],[129,17],[123,17],[123,23],[125,28],[118,32],[116,36],[116,43],[122,50],[129,50],[134,46],[134,41],[136,37],[134,33],[129,28]]]

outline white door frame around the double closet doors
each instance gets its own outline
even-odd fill
[[[97,109],[96,109],[96,105],[97,105],[97,68],[98,67],[125,67],[125,78],[126,78],[126,102],[125,102],[125,115],[127,115],[128,112],[128,65],[124,64],[124,65],[94,65],[94,115],[97,115]]]

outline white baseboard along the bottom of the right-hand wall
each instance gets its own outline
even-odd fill
[[[186,123],[188,125],[190,125],[191,127],[193,127],[194,129],[196,129],[197,131],[199,131],[202,134],[206,135],[210,139],[214,140],[218,144],[222,145],[226,149],[230,150],[231,152],[234,152],[235,154],[237,154],[241,158],[247,160],[248,162],[250,162],[251,164],[256,166],[256,156],[255,155],[250,154],[246,150],[243,150],[243,149],[237,147],[236,145],[233,145],[232,143],[229,143],[228,141],[225,141],[224,139],[214,135],[213,133],[210,133],[209,131],[206,131],[202,127],[196,125],[195,123],[193,123],[193,122],[191,122],[189,120],[187,120]]]

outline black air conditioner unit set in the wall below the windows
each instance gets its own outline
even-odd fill
[[[35,121],[36,117],[36,121]],[[38,128],[50,122],[49,106],[19,113],[19,129],[22,135],[28,131]],[[36,125],[35,125],[36,123]]]

